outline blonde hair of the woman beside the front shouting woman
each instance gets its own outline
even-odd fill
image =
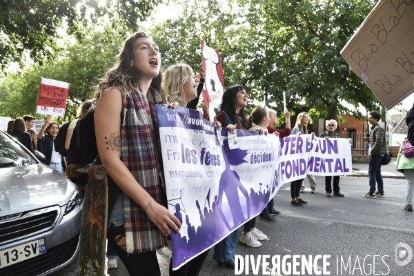
[[[193,78],[193,69],[185,63],[170,66],[164,72],[162,89],[171,101],[181,101],[184,98],[183,84]]]

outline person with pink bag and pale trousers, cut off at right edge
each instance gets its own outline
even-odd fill
[[[413,77],[413,86],[414,86],[414,71],[411,72],[411,77]],[[414,143],[414,104],[411,110],[406,116],[406,124],[408,126],[407,137],[411,145]],[[397,157],[397,170],[404,173],[404,177],[407,180],[407,191],[406,191],[406,206],[404,210],[413,212],[413,203],[414,203],[414,157],[406,158],[402,155],[402,145],[400,147],[400,152],[398,152]]]

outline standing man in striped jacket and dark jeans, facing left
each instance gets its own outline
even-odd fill
[[[382,181],[381,175],[381,162],[386,153],[386,139],[385,130],[378,123],[381,119],[381,113],[372,111],[368,115],[368,121],[371,126],[371,134],[369,135],[370,152],[368,154],[369,167],[369,192],[362,195],[363,197],[373,198],[385,197],[384,194],[384,181]],[[378,186],[377,192],[375,192],[375,184]]]

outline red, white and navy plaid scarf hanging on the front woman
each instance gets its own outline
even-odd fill
[[[148,103],[143,94],[122,94],[124,122],[121,126],[121,160],[159,204],[165,206],[164,184],[161,180],[161,143],[155,103],[161,102],[158,92],[150,88]],[[141,90],[141,88],[140,88]],[[124,193],[126,250],[128,253],[154,251],[167,246],[166,237],[150,221],[145,211]]]

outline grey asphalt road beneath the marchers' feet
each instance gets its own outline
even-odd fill
[[[249,248],[238,243],[236,255],[253,255],[255,262],[259,255],[270,255],[270,258],[280,255],[281,259],[284,255],[331,255],[328,258],[330,264],[326,266],[330,275],[414,275],[414,257],[405,266],[398,266],[395,262],[396,244],[404,242],[414,250],[414,213],[404,210],[405,179],[384,179],[386,197],[377,199],[362,197],[368,191],[366,177],[341,177],[339,186],[345,194],[342,198],[325,197],[324,177],[316,179],[318,190],[315,195],[310,193],[308,181],[305,180],[307,189],[301,197],[309,204],[303,208],[290,206],[290,184],[282,186],[275,196],[275,208],[282,212],[282,215],[277,216],[278,221],[257,219],[256,223],[257,228],[270,240],[262,241],[261,248]],[[240,233],[242,228],[239,229]],[[401,252],[404,253],[398,250],[399,254]],[[373,255],[377,256],[375,260]],[[401,260],[404,261],[406,255],[401,256]],[[159,250],[158,257],[161,275],[168,275],[170,250]],[[120,261],[118,264],[118,268],[108,270],[108,274],[128,275]],[[249,273],[246,274],[244,270],[242,275],[264,275],[263,269],[270,275],[277,275],[272,274],[272,267],[271,263],[267,266],[260,264],[259,272],[253,274],[252,266],[249,266]],[[298,266],[298,275],[311,275],[306,270],[300,274],[301,267]],[[319,259],[316,268],[322,270],[322,267],[322,260]],[[280,275],[291,273],[280,271]],[[77,264],[56,275],[79,275]],[[235,275],[235,270],[217,266],[212,249],[199,275]]]

